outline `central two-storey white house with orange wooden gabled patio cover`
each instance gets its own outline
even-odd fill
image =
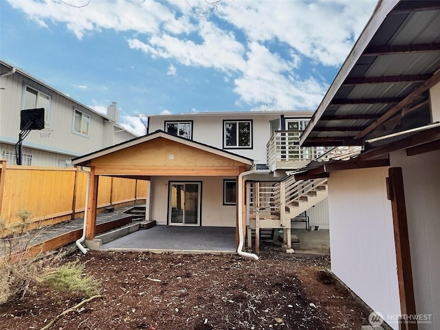
[[[303,166],[325,152],[324,148],[297,146],[310,115],[311,111],[154,115],[148,118],[147,135],[76,157],[72,164],[91,168],[91,193],[96,193],[94,180],[100,175],[147,179],[150,198],[146,219],[159,225],[232,227],[238,240],[239,230],[245,232],[245,225],[255,230],[261,217],[259,228],[285,228],[290,245],[290,218],[300,212],[289,213],[289,219],[284,219],[284,211],[279,213],[285,208],[280,207],[274,193],[261,192],[257,197],[257,187],[276,190],[292,164]],[[251,169],[252,175],[248,173]],[[241,175],[245,175],[245,184]],[[94,196],[90,197],[93,201]],[[316,210],[326,208],[324,199],[319,199],[322,203]],[[309,201],[307,208],[316,203],[318,199]],[[274,208],[278,217],[270,218]],[[93,214],[92,202],[89,210]],[[267,211],[264,217],[263,211]],[[245,214],[245,221],[240,224],[241,214]],[[327,221],[327,217],[321,218],[315,221]],[[94,239],[93,228],[91,222],[87,240]]]

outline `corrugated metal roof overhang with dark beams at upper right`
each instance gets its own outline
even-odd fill
[[[440,1],[380,1],[300,139],[364,145],[431,122],[440,81]]]

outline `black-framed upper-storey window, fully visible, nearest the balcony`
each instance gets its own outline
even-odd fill
[[[252,120],[224,120],[223,148],[252,148]]]

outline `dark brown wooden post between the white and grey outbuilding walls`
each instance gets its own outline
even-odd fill
[[[412,284],[410,241],[406,219],[404,179],[400,167],[388,169],[388,199],[393,212],[394,241],[397,259],[397,281],[399,282],[400,309],[403,316],[415,316],[414,287]],[[412,320],[416,320],[413,318]],[[417,330],[417,322],[401,320],[401,329]]]

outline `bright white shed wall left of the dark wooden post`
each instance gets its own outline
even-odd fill
[[[387,176],[388,168],[341,170],[328,181],[331,271],[385,317],[400,314]]]

